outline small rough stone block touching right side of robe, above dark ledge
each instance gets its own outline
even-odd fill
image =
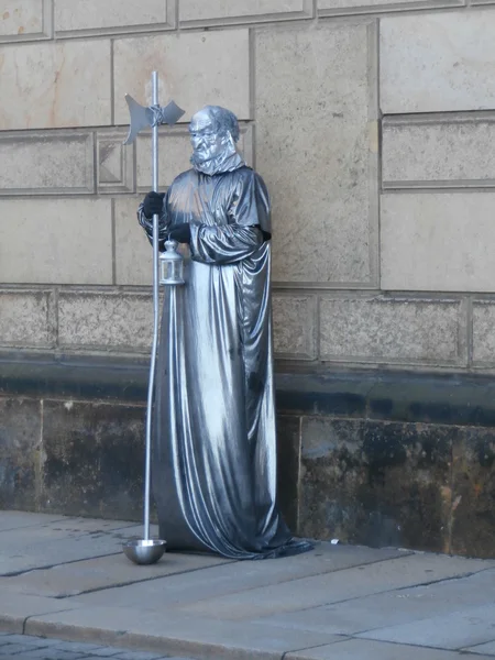
[[[274,349],[276,358],[316,358],[316,298],[273,295]]]

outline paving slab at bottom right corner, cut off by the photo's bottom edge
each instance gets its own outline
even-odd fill
[[[460,656],[421,647],[350,639],[330,646],[288,653],[284,660],[493,660],[488,656]]]

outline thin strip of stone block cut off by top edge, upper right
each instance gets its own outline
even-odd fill
[[[462,0],[318,0],[320,16],[459,7]]]

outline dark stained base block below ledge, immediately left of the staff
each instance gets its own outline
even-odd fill
[[[140,519],[144,408],[45,402],[43,450],[42,510]]]

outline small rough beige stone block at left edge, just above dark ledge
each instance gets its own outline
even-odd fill
[[[54,345],[54,304],[48,292],[0,290],[0,345]]]

